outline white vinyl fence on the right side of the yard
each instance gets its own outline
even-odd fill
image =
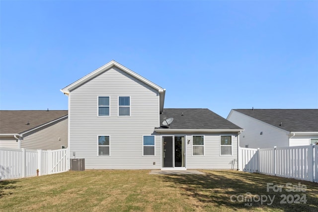
[[[318,145],[240,147],[239,170],[318,182]]]

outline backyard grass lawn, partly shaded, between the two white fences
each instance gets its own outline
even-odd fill
[[[149,170],[87,170],[0,181],[0,211],[318,211],[318,184],[239,171],[149,175]],[[306,185],[304,192],[266,191],[266,183]],[[232,202],[251,193],[247,202]],[[235,195],[235,196],[233,196]],[[261,204],[258,196],[273,198]],[[306,204],[281,204],[281,195]],[[242,197],[242,196],[240,196]]]

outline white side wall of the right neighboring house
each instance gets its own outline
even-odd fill
[[[288,131],[273,127],[235,110],[230,112],[227,119],[244,129],[239,135],[240,147],[248,145],[248,148],[269,148],[284,147],[289,144]]]

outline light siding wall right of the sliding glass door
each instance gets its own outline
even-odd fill
[[[204,136],[204,155],[192,155],[192,135],[186,136],[187,169],[231,169],[231,161],[238,159],[238,136],[236,134],[197,134]],[[220,135],[232,136],[232,155],[220,155]],[[235,161],[234,170],[238,165]]]

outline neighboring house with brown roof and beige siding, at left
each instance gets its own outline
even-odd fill
[[[61,149],[67,146],[67,110],[0,111],[0,147]]]

